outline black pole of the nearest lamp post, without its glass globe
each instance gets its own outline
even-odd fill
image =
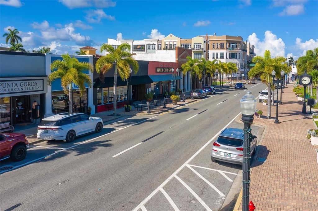
[[[242,207],[243,211],[248,211],[248,203],[250,201],[250,153],[251,153],[251,124],[254,120],[253,115],[242,114],[242,121],[244,123],[244,143],[243,143],[243,197]]]

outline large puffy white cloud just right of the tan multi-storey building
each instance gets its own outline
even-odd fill
[[[255,53],[259,56],[263,56],[265,50],[270,50],[273,57],[285,56],[284,41],[281,38],[277,39],[277,36],[269,30],[265,31],[263,41],[260,41],[255,33],[248,36],[247,41],[255,46]]]

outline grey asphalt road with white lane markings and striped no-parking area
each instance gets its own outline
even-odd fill
[[[258,96],[266,85],[245,87]],[[33,145],[24,161],[1,162],[13,169],[0,175],[0,210],[218,210],[241,167],[212,163],[211,144],[226,125],[240,127],[229,123],[245,92],[219,89],[73,143]]]

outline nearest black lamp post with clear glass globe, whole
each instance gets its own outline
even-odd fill
[[[246,95],[240,100],[242,112],[242,121],[244,123],[244,143],[243,143],[243,211],[248,211],[249,195],[250,195],[250,159],[251,159],[251,124],[254,120],[257,101],[252,96],[252,92],[248,90]]]

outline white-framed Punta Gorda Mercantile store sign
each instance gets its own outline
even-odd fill
[[[43,81],[43,79],[0,81],[0,95],[43,91]]]

